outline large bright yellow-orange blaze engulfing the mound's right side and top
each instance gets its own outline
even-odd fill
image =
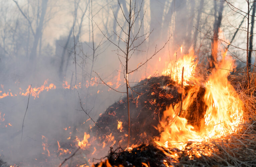
[[[211,139],[227,136],[239,130],[239,125],[243,123],[243,102],[240,100],[235,89],[228,81],[229,70],[235,68],[232,58],[226,56],[226,52],[222,53],[222,59],[215,64],[216,68],[208,76],[207,80],[202,84],[205,87],[204,103],[207,107],[204,119],[201,121],[200,127],[196,129],[188,124],[188,120],[177,116],[179,113],[179,105],[174,108],[170,106],[163,113],[162,121],[158,126],[161,132],[160,138],[155,140],[158,146],[165,148],[178,148],[184,150],[186,148],[200,147],[198,143],[207,142]],[[182,66],[185,67],[184,78],[186,83],[194,77],[196,62],[195,56],[192,54],[184,55],[177,61],[178,82],[180,82],[179,73]],[[177,77],[175,64],[169,64],[169,69],[164,73],[170,75],[173,79]],[[194,85],[188,92],[183,101],[183,112],[193,102],[193,94],[198,92],[200,86]],[[197,144],[195,144],[197,143]],[[213,152],[212,149],[200,148],[201,151],[193,152],[193,155],[200,157],[201,155],[209,156]],[[192,151],[191,151],[192,152]],[[179,158],[178,154],[166,155],[172,158]],[[190,156],[192,158],[192,156]]]

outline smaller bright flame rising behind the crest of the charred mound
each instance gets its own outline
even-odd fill
[[[170,76],[174,81],[178,81],[178,84],[181,84],[182,67],[184,67],[183,85],[189,85],[189,81],[194,81],[195,77],[195,68],[197,65],[195,57],[194,51],[191,50],[177,61],[171,61],[167,69],[162,72],[162,75]]]

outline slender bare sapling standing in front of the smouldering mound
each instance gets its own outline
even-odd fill
[[[142,1],[143,3],[143,1]],[[166,45],[166,43],[164,44],[163,47],[161,47],[160,49],[157,49],[155,48],[155,51],[154,53],[150,56],[150,58],[148,58],[147,60],[145,60],[144,62],[140,63],[140,65],[138,65],[137,68],[133,69],[133,70],[130,70],[129,69],[129,60],[131,59],[131,57],[134,55],[134,53],[136,51],[142,51],[142,50],[139,50],[139,47],[144,43],[144,41],[146,41],[151,32],[148,32],[146,34],[143,34],[143,35],[139,35],[140,34],[140,31],[141,31],[141,27],[142,27],[142,23],[143,23],[143,19],[144,19],[144,16],[145,16],[145,12],[143,14],[143,17],[141,18],[140,20],[140,24],[139,24],[139,27],[134,27],[136,24],[137,21],[139,21],[138,17],[140,15],[140,13],[142,12],[142,3],[140,5],[140,7],[137,9],[136,8],[136,0],[132,3],[131,0],[129,2],[129,7],[128,7],[128,12],[129,12],[129,15],[127,16],[125,13],[125,11],[123,10],[124,8],[124,4],[122,2],[122,5],[121,3],[118,1],[118,4],[119,4],[119,7],[121,9],[121,12],[122,12],[122,15],[123,15],[123,19],[124,19],[124,22],[125,22],[125,25],[124,26],[121,26],[121,23],[119,20],[117,20],[113,10],[113,15],[114,15],[114,18],[115,18],[115,21],[117,23],[117,25],[119,26],[119,29],[120,29],[120,35],[118,35],[116,32],[114,32],[114,34],[117,36],[118,38],[118,41],[115,42],[115,41],[112,41],[110,39],[110,37],[107,37],[103,32],[102,30],[100,29],[100,31],[102,32],[102,34],[113,44],[116,46],[116,51],[117,51],[117,57],[118,57],[118,60],[121,64],[121,67],[122,67],[122,74],[123,74],[123,77],[125,79],[125,82],[126,82],[126,91],[125,92],[120,92],[120,91],[117,91],[115,90],[114,88],[110,87],[109,85],[107,85],[107,83],[105,83],[101,77],[98,75],[98,77],[101,79],[101,81],[107,85],[109,88],[111,88],[112,90],[116,91],[116,92],[119,92],[119,93],[125,93],[126,94],[126,97],[127,97],[127,118],[128,118],[128,140],[127,140],[127,147],[129,147],[130,145],[130,129],[131,129],[131,125],[130,125],[130,95],[129,95],[129,90],[133,91],[133,87],[129,84],[129,74],[135,72],[135,71],[138,71],[138,69],[140,67],[142,67],[143,65],[145,65],[150,59],[153,58],[154,55],[156,55],[160,50],[162,50],[164,48],[164,46]],[[139,39],[143,39],[143,40],[140,40]]]

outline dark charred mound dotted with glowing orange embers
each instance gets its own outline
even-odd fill
[[[185,87],[187,92],[192,86]],[[139,145],[149,143],[155,136],[159,136],[156,128],[160,123],[163,112],[170,105],[175,106],[181,98],[181,92],[176,83],[167,76],[153,77],[138,83],[130,96],[131,143]],[[204,104],[201,100],[204,88],[200,88],[194,96],[194,103],[190,109],[182,113],[192,125],[199,125],[203,118]],[[185,95],[186,96],[186,95]],[[192,111],[197,111],[192,112]],[[99,136],[101,142],[107,136],[125,147],[127,145],[127,100],[126,97],[108,107],[96,122],[97,126],[90,129],[91,136]]]

